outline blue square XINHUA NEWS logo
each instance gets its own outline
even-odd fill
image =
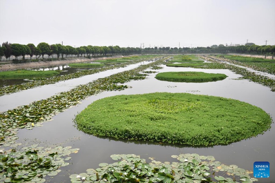
[[[269,162],[256,161],[254,162],[253,174],[255,178],[269,178]]]

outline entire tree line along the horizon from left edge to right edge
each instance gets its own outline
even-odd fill
[[[240,46],[225,46],[225,45],[212,45],[211,47],[195,47],[195,48],[170,48],[170,47],[154,47],[154,48],[120,48],[119,46],[80,46],[74,48],[72,46],[64,46],[61,44],[49,45],[48,43],[41,42],[36,47],[34,44],[29,43],[28,45],[21,45],[17,43],[3,42],[2,47],[0,46],[0,61],[2,56],[5,56],[6,59],[10,56],[15,56],[15,59],[18,59],[18,56],[22,56],[22,59],[25,59],[26,55],[29,55],[31,58],[35,56],[36,59],[39,59],[44,55],[53,57],[54,54],[57,55],[57,58],[64,56],[67,57],[79,57],[79,56],[107,56],[107,55],[130,55],[130,54],[156,54],[156,53],[247,53],[247,54],[275,54],[275,45],[255,45],[254,43],[248,43],[247,45]]]

